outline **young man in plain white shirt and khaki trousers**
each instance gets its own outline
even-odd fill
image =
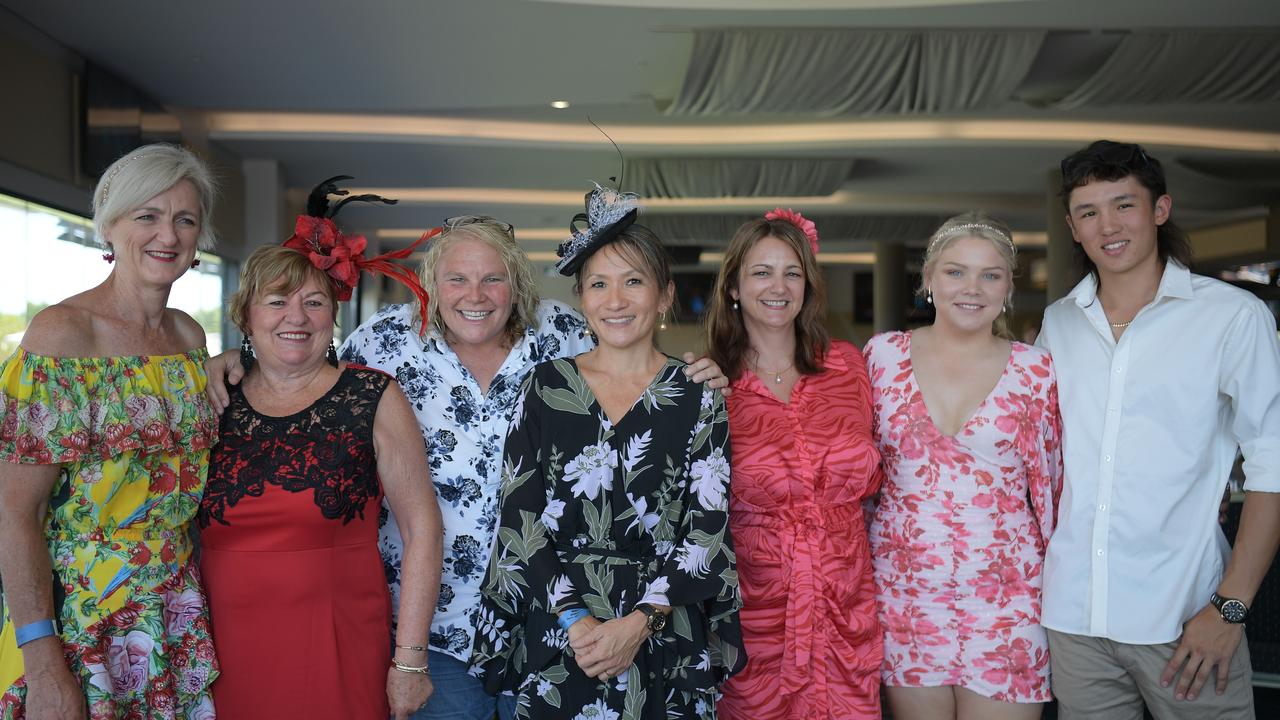
[[[1280,542],[1276,320],[1187,269],[1164,170],[1140,146],[1066,158],[1062,199],[1088,274],[1038,341],[1064,425],[1042,618],[1060,717],[1140,720],[1146,703],[1160,720],[1252,719],[1244,620]],[[1233,551],[1217,514],[1236,448]]]

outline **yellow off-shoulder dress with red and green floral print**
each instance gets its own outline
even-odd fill
[[[218,675],[191,519],[218,420],[207,354],[46,357],[0,366],[0,461],[61,465],[45,520],[54,606],[88,717],[214,717]],[[8,610],[0,717],[26,715]]]

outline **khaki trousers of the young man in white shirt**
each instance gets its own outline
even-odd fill
[[[1174,685],[1160,687],[1176,642],[1126,644],[1106,638],[1048,630],[1053,697],[1061,720],[1253,720],[1253,667],[1244,639],[1231,656],[1226,692],[1217,694],[1217,673],[1196,700],[1174,698]]]

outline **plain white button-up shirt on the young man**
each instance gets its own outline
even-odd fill
[[[1280,342],[1258,299],[1170,261],[1115,341],[1089,275],[1044,311],[1065,482],[1044,559],[1046,628],[1176,639],[1230,553],[1217,523],[1236,447],[1280,492]]]

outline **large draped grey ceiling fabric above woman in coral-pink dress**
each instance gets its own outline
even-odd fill
[[[671,115],[918,114],[1000,106],[1042,31],[696,31]]]

